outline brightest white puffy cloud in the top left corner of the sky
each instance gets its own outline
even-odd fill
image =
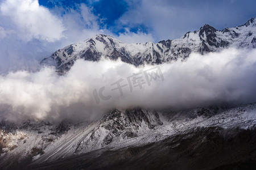
[[[64,37],[61,18],[39,6],[38,0],[6,0],[1,3],[1,14],[10,19],[14,31],[26,41],[39,39],[56,41]],[[10,24],[11,25],[11,24]]]

